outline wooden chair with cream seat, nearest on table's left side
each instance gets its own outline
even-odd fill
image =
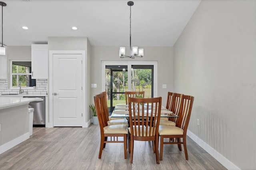
[[[127,134],[128,129],[126,125],[108,125],[106,114],[104,114],[104,107],[102,95],[94,96],[94,104],[97,112],[97,117],[100,125],[100,151],[98,158],[101,158],[102,150],[106,143],[124,143],[124,158],[127,158]],[[108,140],[110,137],[110,140]],[[120,137],[123,139],[120,139]]]

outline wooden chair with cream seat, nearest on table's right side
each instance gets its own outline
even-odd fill
[[[192,111],[194,97],[183,95],[181,101],[181,109],[178,122],[176,126],[159,126],[160,136],[160,160],[163,160],[163,148],[164,144],[178,144],[178,148],[181,151],[183,144],[186,160],[188,160],[188,151],[186,146],[186,135],[188,130],[188,123]],[[168,138],[168,141],[164,142],[164,138]],[[182,140],[181,140],[182,138]]]

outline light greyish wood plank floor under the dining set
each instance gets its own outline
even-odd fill
[[[98,125],[81,127],[34,127],[33,135],[0,155],[1,170],[201,170],[226,169],[210,154],[187,138],[188,160],[177,145],[164,145],[163,160],[156,164],[150,142],[135,141],[133,164],[124,159],[122,143],[108,143],[98,159]],[[182,147],[183,149],[183,147]]]

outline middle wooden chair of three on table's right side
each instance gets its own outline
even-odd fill
[[[173,100],[170,111],[172,111],[175,115],[179,116],[180,113],[180,105],[182,101],[183,94],[180,93],[174,93],[173,94]],[[176,126],[176,121],[178,120],[177,117],[169,117],[167,119],[160,120],[160,125],[168,125],[168,126]]]

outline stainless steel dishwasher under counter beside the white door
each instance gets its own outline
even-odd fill
[[[42,101],[33,101],[28,104],[29,108],[34,108],[33,125],[45,126],[45,97],[23,97],[41,98]]]

